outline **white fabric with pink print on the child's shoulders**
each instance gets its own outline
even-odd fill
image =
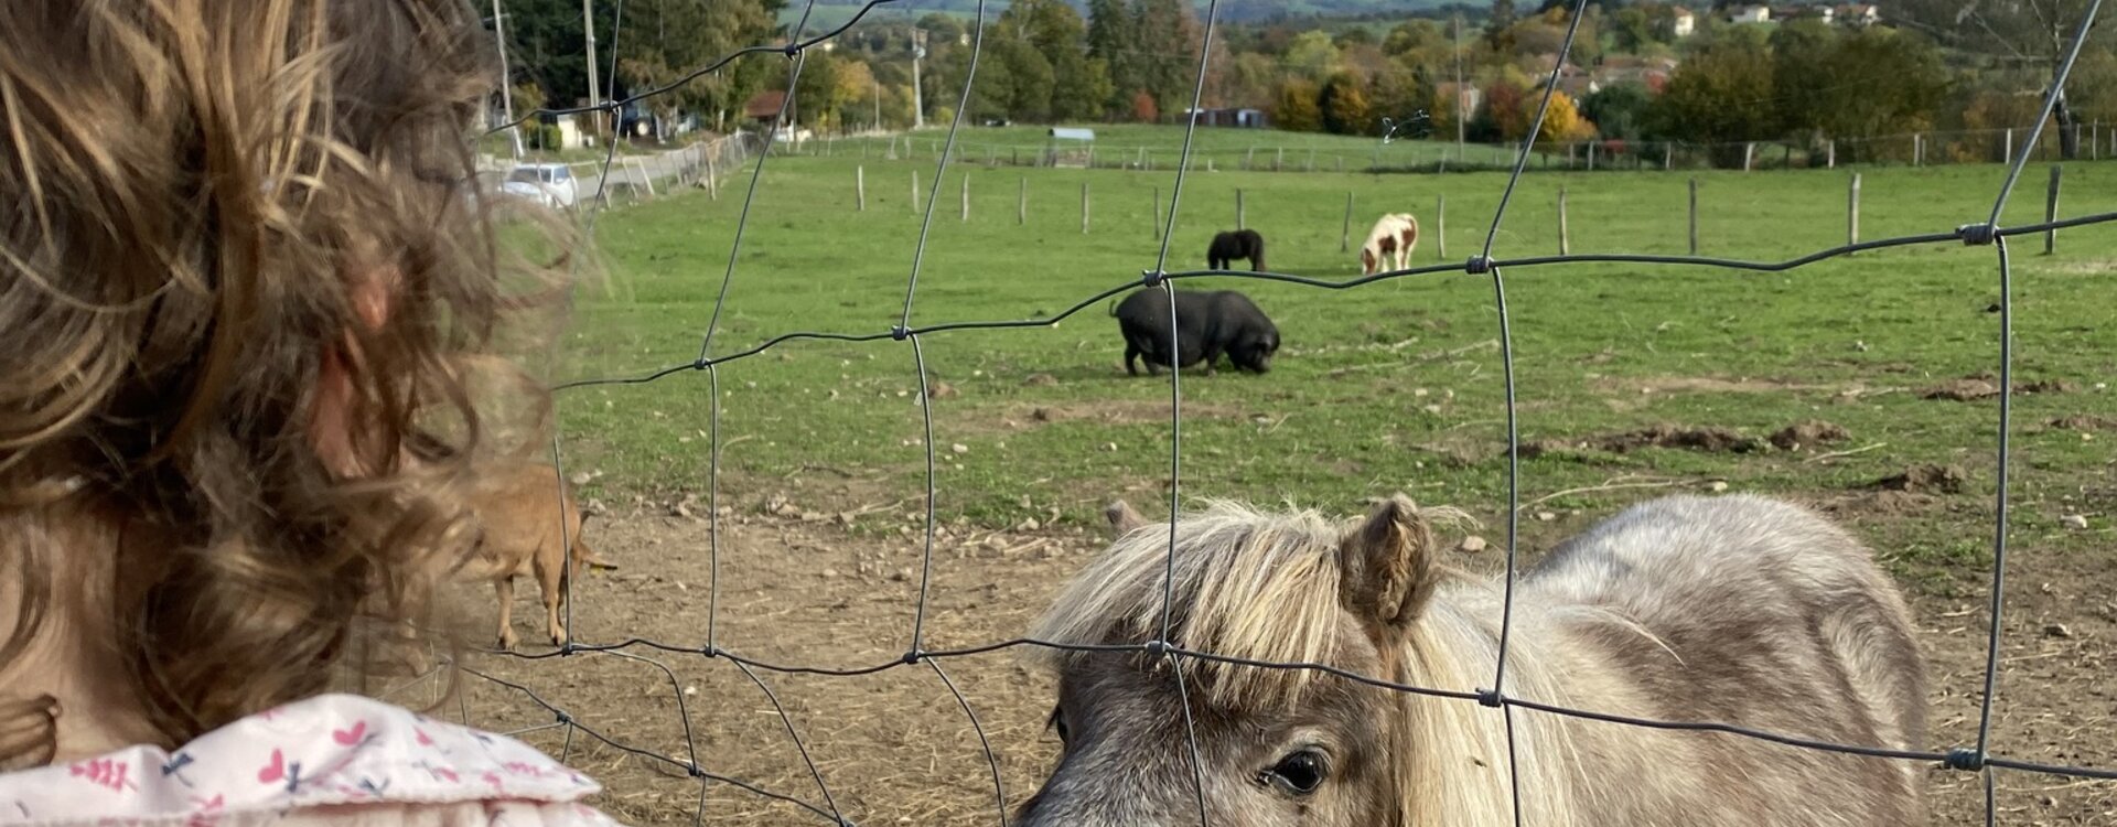
[[[360,696],[320,696],[207,732],[176,753],[0,774],[0,825],[614,825],[601,791],[514,738]]]

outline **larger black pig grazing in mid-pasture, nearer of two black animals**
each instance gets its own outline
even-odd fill
[[[1234,290],[1177,290],[1177,357],[1179,368],[1205,362],[1205,372],[1213,374],[1213,362],[1226,353],[1241,370],[1272,370],[1272,353],[1279,353],[1279,328],[1257,309],[1249,296]],[[1169,298],[1160,290],[1137,290],[1124,296],[1109,311],[1124,332],[1124,372],[1137,376],[1133,360],[1145,357],[1147,372],[1166,368],[1169,357]]]

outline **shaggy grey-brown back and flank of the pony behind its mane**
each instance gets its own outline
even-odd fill
[[[1861,747],[1926,738],[1910,609],[1859,541],[1804,508],[1751,495],[1647,501],[1552,550],[1518,601],[1539,609],[1554,643],[1609,664],[1643,706],[1634,713]],[[1715,734],[1675,745],[1683,755],[1664,759],[1696,761],[1708,787],[1761,789],[1723,797],[1719,823],[1922,819],[1912,761],[1789,755]],[[1848,810],[1816,812],[1819,802]]]

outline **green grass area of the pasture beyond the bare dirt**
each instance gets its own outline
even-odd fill
[[[999,129],[995,129],[999,131]],[[1179,131],[1120,129],[1111,144],[1173,148]],[[1202,131],[1205,144],[1236,137]],[[1230,137],[1232,135],[1232,137]],[[1023,137],[1033,137],[1025,135]],[[1274,135],[1277,137],[1277,135]],[[1296,137],[1289,140],[1315,140]],[[925,135],[919,137],[925,142]],[[1158,140],[1158,142],[1156,142]],[[1033,142],[1033,140],[1031,140]],[[749,212],[711,353],[794,332],[883,334],[872,343],[788,341],[724,364],[724,497],[737,508],[783,478],[847,476],[879,499],[921,495],[925,476],[919,379],[910,343],[889,341],[906,305],[919,239],[908,203],[934,163],[773,157]],[[1365,150],[1372,152],[1372,142]],[[1169,152],[1173,157],[1173,152]],[[866,212],[855,212],[855,165]],[[959,218],[970,180],[972,216]],[[1569,192],[1575,254],[1683,254],[1687,180],[1700,182],[1702,254],[1783,260],[1846,241],[1850,171],[1531,173],[1520,182],[1492,254],[1558,247],[1556,199]],[[1867,169],[1861,237],[1946,233],[1982,220],[2003,167]],[[2117,167],[2066,167],[2064,216],[2117,209]],[[2005,222],[2043,218],[2047,167],[2024,173]],[[644,203],[599,220],[608,283],[582,288],[559,379],[646,374],[690,364],[713,315],[745,178]],[[951,165],[919,269],[910,324],[1046,319],[1156,267],[1158,201],[1173,171],[987,169]],[[1090,226],[1082,233],[1082,190]],[[1247,224],[1268,239],[1274,271],[1357,275],[1340,252],[1346,195],[1353,243],[1380,212],[1414,212],[1416,262],[1478,252],[1503,173],[1361,176],[1196,171],[1186,180],[1169,271],[1202,269],[1205,243]],[[1016,220],[1018,188],[1027,222]],[[1446,197],[1446,233],[1435,214]],[[1446,235],[1446,237],[1444,237]],[[2056,531],[2058,497],[2109,486],[2109,448],[2094,434],[2045,427],[2068,415],[2117,417],[2098,383],[2117,372],[2117,226],[2041,237],[2013,250],[2018,381],[2062,381],[2062,393],[2018,396],[2015,512],[2020,531]],[[1522,442],[1592,438],[1658,423],[1727,427],[1761,438],[1825,419],[1850,431],[1810,461],[1787,453],[1548,451],[1522,461],[1522,499],[1617,482],[1721,478],[1734,489],[1831,495],[1916,463],[1967,470],[1965,501],[1990,506],[1994,400],[1943,402],[1922,389],[1998,364],[1994,247],[1939,243],[1865,252],[1791,273],[1708,267],[1548,264],[1505,273],[1514,326]],[[1266,376],[1186,372],[1183,491],[1192,497],[1289,497],[1334,512],[1361,497],[1412,493],[1499,514],[1505,503],[1505,406],[1492,281],[1461,271],[1319,290],[1247,279],[1183,279],[1238,288],[1277,319],[1285,351]],[[1103,302],[1050,326],[919,336],[931,381],[938,506],[944,518],[1012,525],[1084,520],[1111,495],[1164,495],[1166,376],[1126,376]],[[1048,374],[1042,379],[1037,374]],[[1031,379],[1037,376],[1037,379]],[[591,495],[671,497],[707,486],[709,376],[675,372],[648,385],[561,396],[567,465],[603,472]],[[2117,438],[2117,436],[2113,436]],[[1632,497],[1632,491],[1615,491]],[[1537,510],[1600,508],[1607,493],[1558,495]],[[2041,508],[2049,499],[2049,508]],[[912,499],[917,503],[917,499]],[[1918,533],[1893,550],[1918,573],[1988,554],[1988,535]]]

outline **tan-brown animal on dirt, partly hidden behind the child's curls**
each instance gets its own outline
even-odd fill
[[[572,486],[559,480],[553,465],[495,467],[472,491],[470,514],[478,539],[455,580],[493,582],[500,596],[500,647],[514,649],[519,643],[512,626],[514,577],[525,575],[533,575],[542,592],[550,643],[565,645],[567,628],[559,622],[565,582],[580,575],[582,567],[616,569],[580,537],[586,520],[574,503]]]

